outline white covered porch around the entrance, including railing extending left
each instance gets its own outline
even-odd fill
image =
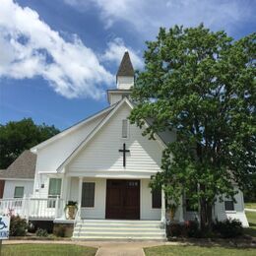
[[[52,190],[51,179],[59,180],[59,191]],[[140,220],[166,221],[163,191],[152,192],[150,177],[122,175],[74,176],[47,175],[43,197],[0,200],[0,214],[19,215],[34,221],[72,223],[80,220]],[[55,185],[56,187],[56,185]],[[53,192],[55,194],[53,195]],[[77,202],[75,220],[68,220],[65,206]],[[183,222],[183,207],[179,206],[175,221]]]

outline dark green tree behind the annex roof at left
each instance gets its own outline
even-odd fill
[[[0,168],[7,168],[25,150],[59,133],[53,125],[36,125],[32,118],[0,124]]]

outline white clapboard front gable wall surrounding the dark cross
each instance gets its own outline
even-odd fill
[[[128,139],[122,139],[122,120],[130,114],[131,108],[124,104],[97,132],[95,137],[69,163],[68,171],[122,171],[123,156],[118,150],[123,143],[130,153],[126,154],[126,171],[160,171],[162,148],[157,141],[142,136],[142,130],[129,124]]]

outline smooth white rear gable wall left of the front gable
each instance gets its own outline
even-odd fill
[[[58,166],[70,156],[106,114],[100,115],[79,129],[39,149],[37,152],[36,171],[56,171]]]

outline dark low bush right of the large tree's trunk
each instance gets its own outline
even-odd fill
[[[213,230],[224,238],[237,237],[243,234],[242,224],[238,220],[227,219],[224,222],[216,221]]]

